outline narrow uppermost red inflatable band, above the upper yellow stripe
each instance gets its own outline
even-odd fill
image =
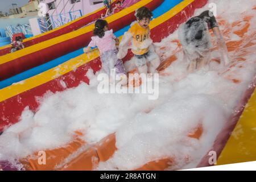
[[[112,3],[112,7],[115,6],[115,3],[117,1]],[[43,35],[43,36],[39,36],[38,38],[34,38],[31,40],[28,40],[26,42],[24,42],[24,46],[25,47],[30,47],[33,46],[35,44],[38,44],[40,42],[44,42],[46,40],[49,39],[53,39],[56,38],[57,36],[60,35],[64,35],[67,34],[69,32],[78,30],[79,28],[85,26],[86,24],[93,22],[94,20],[97,20],[98,18],[101,18],[101,14],[104,14],[106,12],[105,9],[102,9],[100,11],[98,11],[97,13],[93,13],[89,16],[86,16],[84,18],[81,18],[80,20],[77,20],[76,22],[73,22],[71,24],[69,24],[68,26],[65,26],[63,28],[61,28],[60,30],[52,30],[50,31],[49,34]],[[3,49],[0,49],[0,56],[6,55],[7,53],[10,53],[11,47],[6,47]]]

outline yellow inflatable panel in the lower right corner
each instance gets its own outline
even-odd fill
[[[217,165],[256,160],[256,90],[232,132]]]

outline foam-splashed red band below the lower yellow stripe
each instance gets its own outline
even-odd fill
[[[154,42],[160,42],[160,40],[170,35],[177,29],[177,24],[179,25],[185,22],[188,16],[193,15],[195,9],[203,7],[206,3],[207,0],[196,0],[192,2],[191,5],[185,7],[185,9],[180,11],[180,13],[177,15],[168,19],[166,22],[163,22],[159,26],[152,28],[151,35],[154,35],[152,36]],[[161,34],[159,34],[159,30],[162,30]],[[130,59],[131,56],[132,55],[129,54],[126,56],[126,59]],[[78,86],[81,81],[89,83],[88,78],[85,76],[89,68],[92,68],[94,72],[99,71],[101,69],[100,57],[90,61],[88,64],[82,65],[75,71],[68,72],[65,75],[46,82],[43,85],[37,86],[31,90],[28,90],[27,92],[23,92],[17,96],[0,102],[0,115],[2,116],[0,118],[0,132],[3,131],[6,127],[19,121],[20,115],[22,114],[22,111],[25,107],[28,106],[31,110],[36,111],[39,107],[39,103],[36,101],[36,97],[43,96],[47,91],[55,93],[68,88],[73,88]],[[67,85],[66,88],[61,86],[60,80],[65,82]]]

